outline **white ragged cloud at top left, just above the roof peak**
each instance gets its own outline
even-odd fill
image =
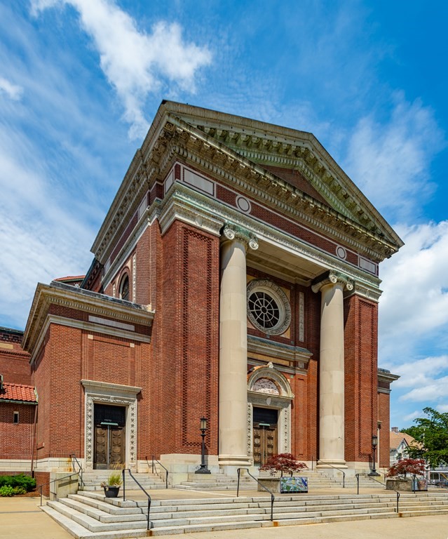
[[[123,102],[132,138],[147,132],[143,107],[149,93],[164,88],[173,95],[177,87],[194,92],[198,69],[212,60],[208,48],[182,39],[178,24],[158,22],[150,34],[142,32],[111,0],[34,0],[32,12],[62,3],[79,12],[81,27],[100,54],[101,69]]]

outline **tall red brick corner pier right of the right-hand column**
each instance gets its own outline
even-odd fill
[[[344,302],[344,314],[346,460],[369,462],[378,420],[378,305],[352,295]]]

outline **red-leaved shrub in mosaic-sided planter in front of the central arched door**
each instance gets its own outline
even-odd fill
[[[260,467],[260,472],[269,472],[271,477],[262,477],[259,478],[259,481],[269,490],[280,493],[308,492],[308,478],[293,477],[294,472],[299,472],[304,468],[307,468],[306,464],[299,462],[291,453],[272,455]],[[286,477],[283,477],[284,475]],[[259,490],[262,490],[260,486]]]

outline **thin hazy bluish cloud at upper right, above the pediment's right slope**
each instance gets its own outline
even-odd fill
[[[388,122],[373,115],[358,122],[346,171],[386,217],[415,220],[422,200],[433,192],[430,161],[445,144],[432,109],[396,93]]]

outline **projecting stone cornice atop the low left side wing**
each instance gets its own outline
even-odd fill
[[[36,353],[36,343],[43,338],[43,328],[48,322],[50,305],[60,305],[74,310],[88,312],[99,317],[109,317],[115,321],[142,326],[151,326],[154,312],[143,305],[117,300],[107,295],[98,294],[81,288],[55,283],[50,285],[39,283],[34,294],[32,307],[29,312],[27,327],[23,336],[22,347],[30,354]],[[81,322],[82,324],[82,322]],[[98,329],[100,325],[93,325]],[[104,331],[111,331],[104,326]],[[116,331],[116,330],[114,330]],[[133,333],[132,335],[136,335]]]

